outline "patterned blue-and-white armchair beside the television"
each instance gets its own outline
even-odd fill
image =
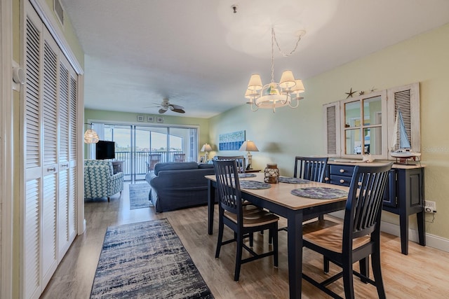
[[[123,190],[123,172],[114,174],[111,161],[84,160],[84,198],[109,197]]]

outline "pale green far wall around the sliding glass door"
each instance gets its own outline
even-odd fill
[[[88,120],[110,120],[112,123],[116,122],[126,122],[126,123],[134,123],[135,125],[150,125],[153,123],[141,123],[137,121],[137,117],[143,115],[144,119],[147,119],[147,116],[156,116],[161,115],[153,115],[153,114],[142,114],[142,113],[127,113],[127,112],[116,112],[116,111],[104,111],[104,110],[93,110],[93,109],[84,109],[84,123],[88,123]],[[180,116],[170,116],[163,114],[163,124],[162,125],[198,125],[199,126],[199,148],[203,146],[206,142],[209,143],[209,120],[206,118],[186,118]],[[154,125],[158,125],[158,123],[154,123]],[[87,125],[84,125],[83,132],[88,128]],[[84,146],[84,158],[87,158],[87,146]]]

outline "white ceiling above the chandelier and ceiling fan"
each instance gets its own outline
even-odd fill
[[[448,0],[62,0],[85,53],[85,107],[209,118],[246,102],[250,74],[310,78],[449,22]],[[237,13],[232,12],[236,4]],[[307,99],[307,85],[304,97]],[[348,86],[349,88],[349,86]]]

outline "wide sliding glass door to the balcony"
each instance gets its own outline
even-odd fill
[[[196,161],[198,128],[94,123],[100,140],[115,142],[126,181],[145,179],[156,162]],[[93,148],[95,153],[95,148]]]

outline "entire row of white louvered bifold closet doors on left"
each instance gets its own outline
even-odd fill
[[[76,236],[77,75],[25,6],[20,297],[39,298]]]

